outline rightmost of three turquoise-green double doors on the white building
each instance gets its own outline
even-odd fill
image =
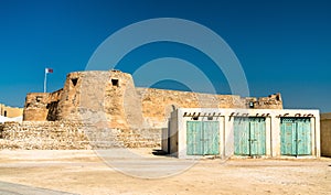
[[[310,118],[280,118],[280,138],[282,155],[310,155]]]

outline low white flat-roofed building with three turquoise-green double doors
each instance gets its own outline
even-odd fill
[[[162,133],[180,159],[320,158],[319,110],[180,108]]]

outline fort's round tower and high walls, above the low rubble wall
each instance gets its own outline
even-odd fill
[[[282,109],[280,94],[239,97],[190,91],[136,88],[131,75],[119,71],[76,72],[63,89],[28,94],[24,121],[89,121],[108,128],[167,128],[175,108]]]

